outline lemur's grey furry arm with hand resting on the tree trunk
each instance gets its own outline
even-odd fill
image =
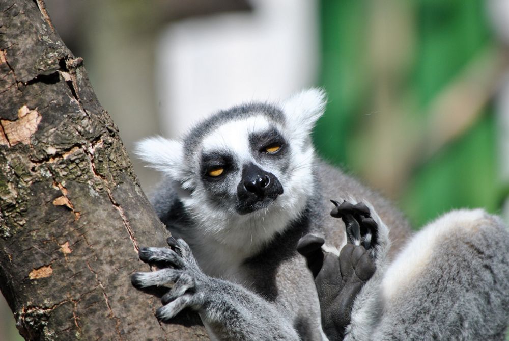
[[[228,340],[299,340],[292,322],[262,297],[244,287],[205,275],[182,239],[168,238],[171,248],[144,247],[139,257],[146,263],[165,264],[155,272],[138,272],[138,288],[175,284],[161,298],[156,316],[166,322],[184,308],[200,313],[210,336]]]

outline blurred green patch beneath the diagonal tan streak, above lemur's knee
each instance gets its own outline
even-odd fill
[[[416,227],[453,208],[497,212],[493,116],[486,115],[458,141],[445,146],[415,171],[401,206]]]

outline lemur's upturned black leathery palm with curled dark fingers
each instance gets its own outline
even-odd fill
[[[325,251],[323,238],[305,235],[297,244],[315,277],[322,327],[330,340],[341,340],[350,324],[352,305],[362,286],[375,273],[372,257],[377,241],[377,224],[363,203],[344,201],[331,215],[345,222],[348,244],[339,257]]]

